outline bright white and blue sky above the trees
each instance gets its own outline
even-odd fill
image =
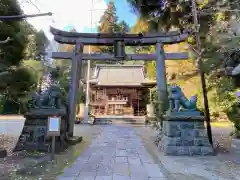
[[[52,12],[53,16],[37,17],[28,19],[38,30],[42,29],[49,39],[52,35],[49,32],[49,26],[67,30],[67,27],[73,26],[78,32],[96,32],[96,27],[107,8],[109,0],[32,0],[38,7],[29,3],[23,3],[22,9],[25,14]],[[136,16],[131,12],[126,0],[115,0],[117,15],[119,20],[125,20],[130,26],[136,22]],[[91,28],[91,9],[92,28]],[[92,29],[92,30],[91,30]]]

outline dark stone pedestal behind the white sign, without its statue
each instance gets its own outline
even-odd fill
[[[36,109],[25,114],[25,124],[14,151],[51,151],[51,137],[47,136],[49,116],[61,117],[60,136],[56,137],[55,151],[67,148],[67,121],[65,109]]]

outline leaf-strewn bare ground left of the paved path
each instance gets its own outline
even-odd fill
[[[8,150],[8,156],[0,159],[1,180],[41,179],[55,180],[65,166],[71,164],[76,157],[102,131],[101,126],[75,125],[74,135],[82,136],[83,142],[70,146],[65,152],[55,155],[53,162],[45,153],[12,153],[17,142],[16,136],[1,135],[1,147]]]

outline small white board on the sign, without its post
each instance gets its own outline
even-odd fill
[[[48,134],[49,135],[60,135],[60,117],[49,117],[48,118]]]

